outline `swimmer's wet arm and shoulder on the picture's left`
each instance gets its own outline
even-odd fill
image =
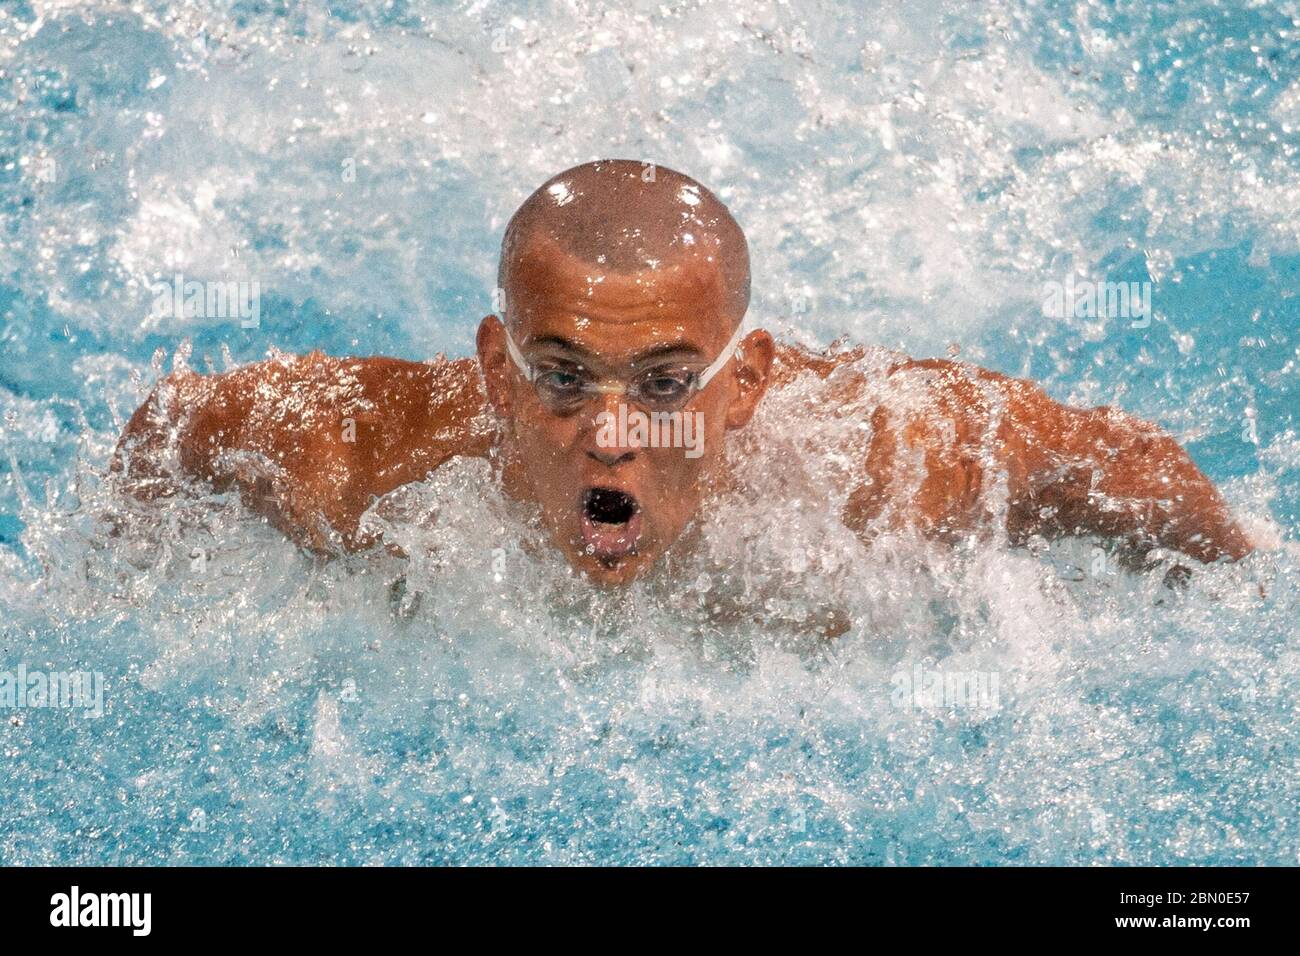
[[[468,360],[333,359],[317,354],[216,376],[178,372],[131,416],[112,470],[157,498],[237,489],[317,551],[364,548],[360,516],[394,488],[458,454],[484,454]]]

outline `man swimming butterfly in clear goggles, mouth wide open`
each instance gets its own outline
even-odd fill
[[[533,193],[506,229],[498,285],[504,307],[480,324],[476,359],[312,352],[173,373],[131,416],[113,472],[140,498],[234,489],[304,548],[337,553],[380,544],[360,528],[380,497],[490,457],[575,568],[623,584],[727,485],[724,434],[768,389],[863,354],[744,332],[741,228],[694,179],[638,161],[580,165]],[[1154,425],[959,362],[898,356],[883,375],[924,401],[864,412],[870,440],[836,489],[864,540],[910,525],[941,540],[1095,536],[1206,563],[1252,550]],[[836,388],[850,407],[866,384]]]

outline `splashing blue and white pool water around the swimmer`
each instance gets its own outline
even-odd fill
[[[105,682],[0,711],[0,862],[1300,860],[1284,4],[131,10],[0,7],[0,667]],[[1278,546],[1186,591],[1087,541],[867,550],[816,490],[842,423],[780,402],[754,496],[619,596],[473,466],[376,519],[410,562],[103,480],[174,362],[468,354],[515,206],[602,155],[729,203],[754,323],[1121,405]],[[151,315],[176,273],[257,278],[260,326]],[[1152,282],[1149,328],[1044,316],[1070,273]],[[898,706],[918,666],[997,706]]]

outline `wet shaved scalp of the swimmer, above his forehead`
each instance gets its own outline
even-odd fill
[[[564,258],[594,277],[637,281],[690,269],[716,284],[728,324],[749,307],[749,246],[727,207],[682,173],[634,160],[599,160],[551,177],[511,219],[498,285],[507,316],[521,273]],[[510,316],[508,316],[510,317]]]

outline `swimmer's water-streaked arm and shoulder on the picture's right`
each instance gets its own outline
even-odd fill
[[[1135,557],[1158,546],[1202,562],[1252,550],[1214,484],[1156,425],[1117,408],[1072,408],[1034,382],[962,363],[894,371],[923,381],[932,402],[906,420],[876,411],[874,480],[850,496],[850,527],[864,527],[902,490],[911,519],[936,536],[968,533],[1005,499],[1017,542],[1098,536]],[[907,462],[923,462],[923,477],[902,488]]]

